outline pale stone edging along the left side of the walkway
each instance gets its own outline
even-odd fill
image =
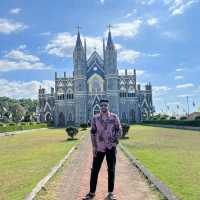
[[[86,134],[83,134],[80,137],[80,141],[85,137]],[[73,146],[70,151],[67,153],[67,155],[65,155],[65,157],[60,160],[59,164],[57,164],[56,166],[54,166],[51,171],[47,174],[47,176],[45,176],[43,179],[41,179],[37,185],[35,186],[35,188],[32,189],[32,191],[25,197],[25,200],[34,200],[34,198],[36,197],[36,195],[40,192],[40,190],[42,188],[45,187],[45,185],[47,184],[47,182],[55,175],[55,173],[64,165],[65,161],[70,157],[70,155],[74,152],[74,150],[77,148],[77,146],[80,145],[80,142],[77,143],[75,146]]]

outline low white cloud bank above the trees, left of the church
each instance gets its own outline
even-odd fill
[[[38,89],[44,87],[46,90],[50,90],[51,87],[54,87],[54,81],[44,80],[39,81],[8,81],[5,79],[0,79],[0,96],[7,96],[11,98],[38,98]]]

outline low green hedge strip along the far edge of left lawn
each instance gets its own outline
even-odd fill
[[[36,128],[46,128],[47,124],[14,124],[14,125],[6,125],[5,126],[0,126],[0,133],[4,132],[12,132],[12,131],[21,131],[21,130],[29,130],[29,129],[36,129]]]

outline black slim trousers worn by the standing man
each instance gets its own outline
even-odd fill
[[[115,182],[116,154],[116,147],[112,147],[111,149],[106,149],[106,152],[97,152],[96,156],[93,157],[90,176],[90,192],[95,193],[96,191],[98,174],[105,155],[108,171],[108,192],[113,192]]]

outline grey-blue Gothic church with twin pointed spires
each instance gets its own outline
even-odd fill
[[[40,87],[38,91],[38,117],[40,122],[53,121],[55,126],[88,123],[100,111],[99,101],[109,99],[109,110],[121,122],[140,123],[149,118],[154,107],[150,83],[141,88],[136,82],[136,69],[119,73],[117,50],[111,30],[107,42],[102,41],[103,55],[96,50],[87,57],[87,43],[81,41],[78,31],[73,51],[73,76],[66,73],[58,77],[50,93]]]

